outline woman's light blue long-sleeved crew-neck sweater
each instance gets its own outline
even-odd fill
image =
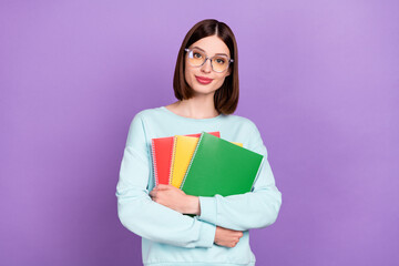
[[[201,215],[190,217],[155,203],[151,139],[219,131],[265,160],[252,192],[223,197],[200,196]],[[139,112],[129,129],[116,185],[117,215],[129,231],[142,237],[144,265],[255,265],[249,229],[272,225],[282,205],[259,131],[248,119],[221,114],[212,119],[180,116],[165,106]],[[216,226],[243,231],[235,247],[214,244]]]

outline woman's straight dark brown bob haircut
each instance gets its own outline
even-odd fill
[[[231,74],[225,78],[224,83],[215,91],[215,109],[223,114],[232,114],[237,108],[239,86],[238,86],[238,51],[237,43],[231,28],[217,20],[206,19],[197,22],[185,35],[180,48],[176,68],[173,78],[173,89],[175,96],[182,101],[193,96],[193,89],[190,88],[184,78],[185,70],[185,48],[194,42],[209,35],[217,35],[226,43],[231,58],[234,60],[228,68]]]

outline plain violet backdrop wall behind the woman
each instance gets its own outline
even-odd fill
[[[283,193],[257,265],[397,265],[399,1],[1,1],[0,265],[140,265],[116,214],[131,120],[175,101],[185,33],[235,32]]]

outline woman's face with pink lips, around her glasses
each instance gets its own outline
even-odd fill
[[[225,53],[228,58],[231,58],[227,45],[216,35],[200,39],[188,47],[188,49],[192,48],[202,49],[208,58],[214,57],[216,53]],[[215,72],[212,69],[209,59],[207,59],[206,62],[201,66],[193,66],[188,63],[186,52],[184,76],[187,84],[194,90],[195,95],[215,93],[215,91],[223,85],[225,78],[231,74],[231,66],[232,65],[229,65],[228,69],[222,73]],[[205,84],[203,80],[198,80],[201,76],[212,79],[212,81]]]

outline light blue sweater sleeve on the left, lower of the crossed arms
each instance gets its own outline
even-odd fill
[[[141,112],[131,122],[116,185],[117,216],[141,237],[195,248],[212,247],[216,226],[165,207],[149,195],[151,153]]]

